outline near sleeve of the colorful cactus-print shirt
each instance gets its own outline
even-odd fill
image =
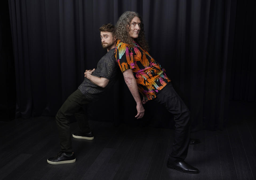
[[[120,43],[117,47],[115,58],[122,72],[127,69],[135,68],[133,52],[125,43]]]

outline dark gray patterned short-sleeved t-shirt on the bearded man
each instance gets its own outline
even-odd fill
[[[78,89],[91,101],[97,101],[109,87],[113,86],[117,79],[118,65],[114,57],[115,48],[109,50],[98,62],[97,68],[92,75],[109,79],[109,83],[105,88],[93,84],[89,79],[85,78]]]

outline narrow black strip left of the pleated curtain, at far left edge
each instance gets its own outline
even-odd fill
[[[8,1],[0,2],[0,121],[15,118],[16,90]]]

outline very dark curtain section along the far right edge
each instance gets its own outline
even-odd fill
[[[256,101],[256,1],[238,1],[230,99]]]

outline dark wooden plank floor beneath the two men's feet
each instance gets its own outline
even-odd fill
[[[0,179],[256,179],[255,103],[231,101],[230,112],[227,129],[191,134],[202,142],[189,146],[186,161],[199,174],[166,167],[170,129],[91,121],[95,139],[73,139],[77,161],[51,165],[60,148],[54,118],[0,122]]]

